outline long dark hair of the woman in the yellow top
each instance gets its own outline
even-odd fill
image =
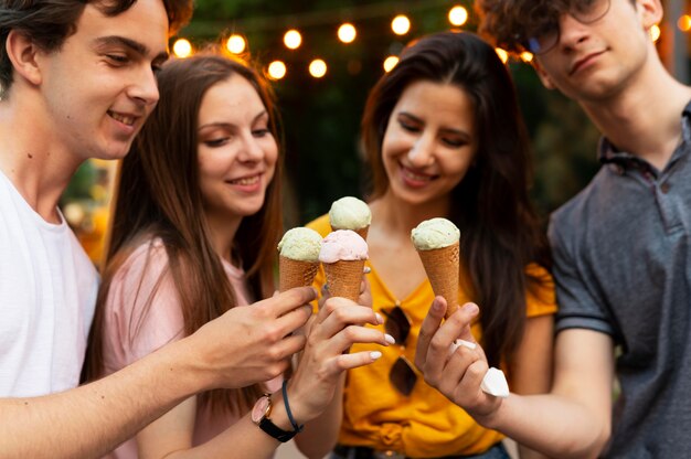
[[[406,47],[370,92],[362,118],[372,199],[389,188],[382,160],[389,118],[405,88],[419,81],[454,84],[472,100],[478,151],[444,216],[461,232],[461,273],[480,306],[487,357],[495,366],[510,363],[525,324],[527,288],[536,292],[532,287],[545,280],[528,277],[525,268],[533,261],[551,267],[529,199],[530,149],[513,83],[495,50],[471,33],[437,33]]]

